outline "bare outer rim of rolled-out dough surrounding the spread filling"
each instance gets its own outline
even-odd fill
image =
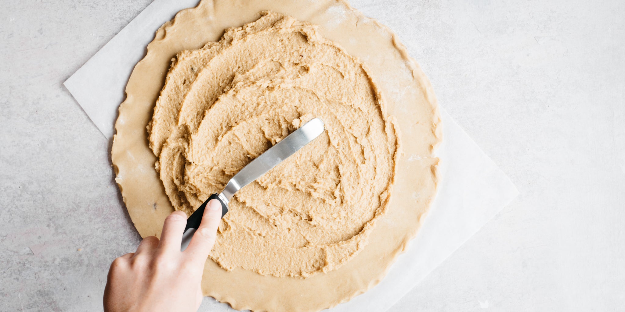
[[[386,213],[375,222],[367,245],[337,270],[308,278],[279,277],[241,267],[227,271],[212,260],[206,262],[204,295],[237,310],[319,311],[376,285],[416,235],[436,194],[438,159],[433,151],[441,140],[436,99],[421,69],[389,29],[362,16],[347,2],[333,0],[203,0],[179,12],[156,33],[129,79],[116,122],[114,170],[141,236],[160,235],[164,218],[174,208],[154,169],[157,158],[148,146],[146,125],[171,59],[181,51],[218,41],[228,27],[255,21],[266,10],[319,25],[322,37],[362,61],[386,103],[384,114],[396,117],[402,134],[402,154],[396,160],[396,183]]]

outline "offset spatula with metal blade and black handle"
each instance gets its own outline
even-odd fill
[[[184,228],[181,250],[185,250],[187,246],[189,246],[193,234],[196,232],[197,227],[199,227],[199,223],[202,222],[204,208],[206,208],[209,200],[216,199],[221,202],[221,217],[223,218],[228,212],[228,203],[232,199],[232,196],[234,196],[234,193],[261,177],[261,175],[271,170],[271,168],[276,167],[282,160],[295,154],[297,150],[314,140],[322,134],[323,131],[323,121],[319,118],[312,119],[243,167],[241,171],[228,181],[226,188],[224,188],[221,193],[212,194],[211,197],[209,197],[206,202],[202,203],[202,205],[193,212],[191,217],[187,219],[187,227]]]

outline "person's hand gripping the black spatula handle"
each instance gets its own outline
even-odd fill
[[[189,247],[180,251],[186,220],[184,212],[171,213],[160,241],[148,236],[136,252],[113,261],[104,289],[104,311],[197,311],[204,263],[221,220],[221,203],[208,202]]]

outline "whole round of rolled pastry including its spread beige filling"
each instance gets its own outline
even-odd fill
[[[143,237],[307,120],[326,122],[222,222],[202,290],[237,310],[312,312],[364,293],[436,195],[432,87],[395,34],[342,0],[202,0],[156,32],[126,95],[111,154]]]

